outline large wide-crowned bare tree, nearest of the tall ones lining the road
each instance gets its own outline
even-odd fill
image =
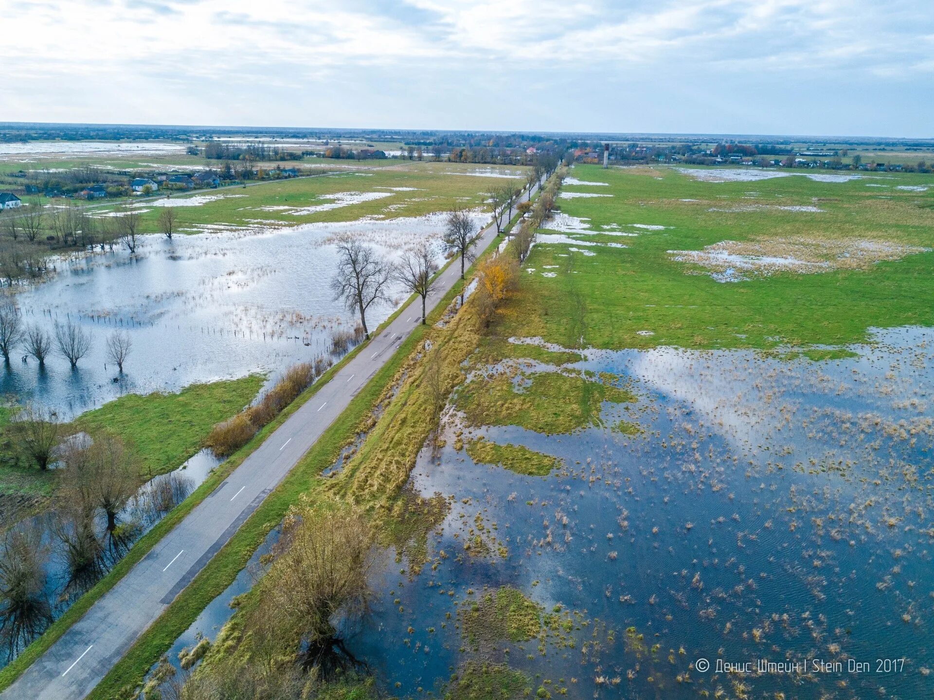
[[[334,301],[343,301],[348,311],[360,313],[363,335],[369,338],[366,309],[375,301],[389,301],[386,288],[392,279],[392,265],[353,238],[338,241],[337,255],[337,272],[331,280]]]

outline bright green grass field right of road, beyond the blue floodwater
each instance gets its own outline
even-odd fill
[[[872,326],[934,323],[934,252],[880,262],[860,257],[869,244],[934,247],[934,209],[924,206],[934,202],[934,175],[704,182],[675,169],[594,165],[578,165],[572,175],[607,183],[567,184],[563,192],[611,196],[558,200],[563,214],[586,218],[601,233],[567,234],[580,246],[536,245],[526,264],[536,271],[526,273],[504,310],[503,334],[542,336],[567,348],[769,348],[840,345],[866,339]],[[927,184],[926,192],[898,189]],[[718,282],[710,269],[669,252],[723,241],[760,256],[824,255],[827,268]],[[553,276],[542,274],[548,271]]]

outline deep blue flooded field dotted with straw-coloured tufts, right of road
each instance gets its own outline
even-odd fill
[[[637,401],[604,404],[601,424],[572,435],[463,437],[558,457],[546,477],[474,464],[449,427],[411,482],[450,507],[430,565],[402,558],[380,573],[384,593],[348,648],[404,697],[472,661],[577,698],[927,697],[934,331],[850,350],[820,363],[584,350],[560,371],[613,377]],[[559,371],[517,362],[520,378]],[[503,638],[470,624],[509,590],[534,604],[531,629]],[[904,661],[877,673],[878,659]],[[716,673],[718,660],[807,667],[737,675]],[[850,660],[870,671],[849,673]]]

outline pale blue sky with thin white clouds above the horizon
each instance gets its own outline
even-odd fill
[[[934,136],[931,0],[0,0],[0,120]]]

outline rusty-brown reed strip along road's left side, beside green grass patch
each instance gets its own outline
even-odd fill
[[[330,366],[330,360],[319,357],[314,363],[296,364],[291,367],[285,377],[279,379],[276,386],[270,389],[258,404],[215,425],[207,436],[205,445],[214,450],[219,457],[233,454],[246,445],[263,425],[275,419]]]

